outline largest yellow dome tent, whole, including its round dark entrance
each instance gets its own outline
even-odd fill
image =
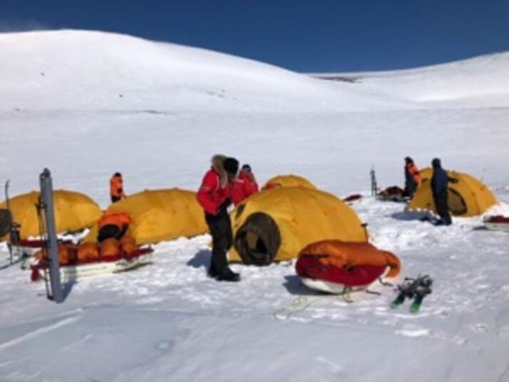
[[[361,221],[327,192],[280,187],[259,192],[232,212],[231,262],[266,265],[297,257],[312,242],[366,242]]]

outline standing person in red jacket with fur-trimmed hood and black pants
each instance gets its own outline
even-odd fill
[[[228,206],[232,204],[239,162],[224,155],[212,157],[212,167],[202,180],[197,200],[205,210],[205,221],[212,235],[212,259],[209,277],[220,281],[238,282],[240,274],[228,267],[226,254],[233,244],[232,224]]]

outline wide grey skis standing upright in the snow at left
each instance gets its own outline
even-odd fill
[[[50,299],[57,303],[63,302],[60,281],[60,264],[58,264],[58,244],[56,241],[55,211],[53,210],[53,182],[47,168],[39,176],[41,182],[41,200],[43,202],[44,220],[46,224],[46,242],[48,245],[48,267],[51,283]]]

